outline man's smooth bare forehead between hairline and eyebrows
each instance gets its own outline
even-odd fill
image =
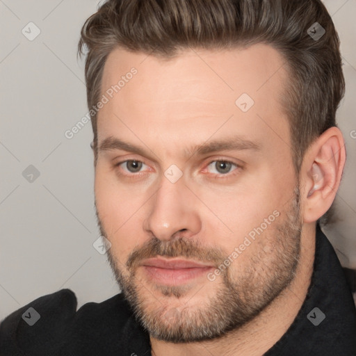
[[[289,140],[280,104],[287,84],[286,62],[267,44],[186,49],[170,59],[115,49],[102,76],[108,102],[98,114],[98,137],[121,133],[137,143],[162,132],[167,144],[179,136],[181,142],[191,138],[194,143],[213,131],[237,130],[258,138],[269,127],[271,134]],[[243,111],[246,106],[250,110]]]

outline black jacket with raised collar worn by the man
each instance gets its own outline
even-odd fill
[[[149,336],[121,293],[101,303],[88,302],[77,312],[76,303],[75,294],[62,289],[10,314],[0,324],[0,355],[151,355]],[[356,309],[350,287],[319,227],[307,298],[289,330],[264,355],[356,356]]]

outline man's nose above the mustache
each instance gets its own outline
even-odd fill
[[[175,183],[162,177],[156,194],[148,204],[149,212],[143,229],[161,241],[179,236],[190,237],[201,227],[197,197],[185,186],[181,177]],[[183,232],[183,233],[182,233]]]

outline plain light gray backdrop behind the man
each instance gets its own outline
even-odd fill
[[[347,92],[338,121],[348,149],[337,195],[343,221],[325,233],[343,266],[356,269],[356,0],[324,2],[341,38]],[[76,45],[98,3],[0,0],[0,319],[58,289],[72,289],[79,307],[119,292],[106,255],[92,246],[90,122],[65,137],[88,112]],[[29,22],[40,29],[32,41],[22,33],[35,35]]]

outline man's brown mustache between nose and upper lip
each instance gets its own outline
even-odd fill
[[[159,238],[154,237],[140,248],[133,249],[126,262],[127,269],[134,270],[143,259],[157,256],[195,259],[213,264],[213,266],[219,266],[226,259],[226,254],[220,248],[202,247],[200,243],[188,238],[182,237],[176,240],[161,241]]]

